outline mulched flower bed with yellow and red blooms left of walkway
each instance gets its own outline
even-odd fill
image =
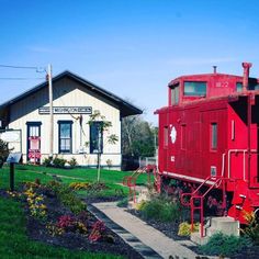
[[[55,246],[94,252],[142,258],[87,211],[87,205],[65,185],[23,184],[19,193],[8,194],[25,204],[27,234],[31,238]]]

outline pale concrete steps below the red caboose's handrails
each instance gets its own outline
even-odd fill
[[[210,225],[204,227],[205,237],[201,237],[200,233],[192,233],[191,240],[199,245],[204,245],[211,236],[219,232],[229,236],[239,236],[239,222],[228,216],[212,217]]]

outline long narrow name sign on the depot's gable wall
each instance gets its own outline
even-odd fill
[[[38,114],[49,114],[49,106],[38,108]],[[91,106],[54,106],[53,114],[92,114]]]

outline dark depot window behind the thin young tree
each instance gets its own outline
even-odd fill
[[[92,122],[90,125],[90,154],[102,154],[103,131],[102,122]]]

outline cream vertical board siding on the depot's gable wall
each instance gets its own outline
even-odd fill
[[[92,111],[99,110],[108,121],[112,122],[109,133],[104,133],[104,149],[101,159],[103,166],[111,159],[113,166],[121,165],[121,120],[120,109],[111,101],[97,95],[80,83],[63,78],[53,86],[53,106],[91,106]],[[27,122],[41,122],[41,153],[42,160],[49,154],[49,115],[40,114],[38,108],[49,106],[47,87],[29,95],[11,105],[9,128],[22,131],[22,153],[26,160],[27,151]],[[97,155],[89,154],[89,147],[85,147],[86,154],[78,154],[80,148],[80,114],[54,114],[54,154],[58,155],[58,121],[72,121],[72,154],[59,155],[65,159],[75,157],[79,165],[94,166]],[[82,114],[82,145],[89,142],[89,115]],[[115,145],[106,144],[106,135],[115,134],[119,142]]]

